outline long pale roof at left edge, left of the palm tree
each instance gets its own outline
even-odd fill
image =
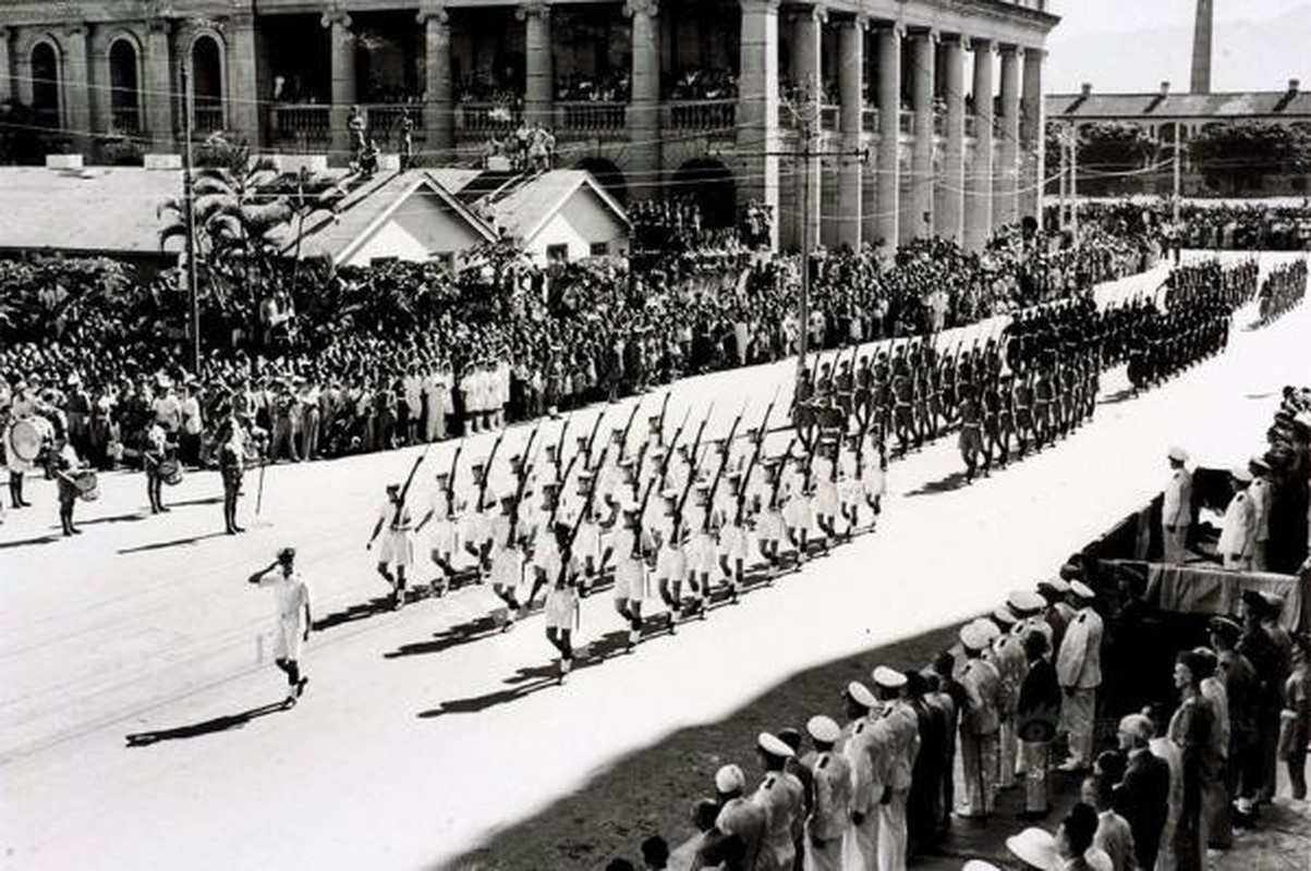
[[[0,248],[159,254],[160,206],[181,196],[176,169],[0,166]]]

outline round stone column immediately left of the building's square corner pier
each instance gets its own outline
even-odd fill
[[[632,20],[632,96],[628,100],[628,148],[632,179],[628,190],[636,199],[661,195],[659,106],[659,1],[628,0],[624,8]]]

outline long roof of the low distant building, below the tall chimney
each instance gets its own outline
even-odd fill
[[[1311,118],[1311,93],[1242,90],[1215,94],[1047,94],[1047,115],[1075,118]]]

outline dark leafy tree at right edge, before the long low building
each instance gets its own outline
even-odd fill
[[[1188,143],[1207,183],[1238,194],[1268,173],[1306,172],[1311,138],[1282,124],[1234,120],[1206,124]]]

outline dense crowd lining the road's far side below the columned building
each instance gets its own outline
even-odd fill
[[[499,426],[793,354],[801,263],[705,231],[690,203],[635,210],[649,255],[539,269],[523,259],[452,276],[435,263],[305,263],[257,324],[206,299],[205,360],[187,372],[185,299],[96,261],[0,266],[9,293],[0,373],[12,396],[96,409],[79,447],[101,468],[132,457],[142,409],[184,392],[215,428],[248,411],[273,458],[387,449]],[[88,265],[89,263],[89,265]],[[100,263],[100,265],[97,265]],[[821,250],[806,329],[814,350],[928,333],[1145,269],[1133,238],[1078,249],[1007,231],[982,255],[941,241],[890,259]],[[84,396],[85,394],[85,396]],[[165,405],[172,405],[165,401]],[[166,415],[170,431],[181,420]]]

